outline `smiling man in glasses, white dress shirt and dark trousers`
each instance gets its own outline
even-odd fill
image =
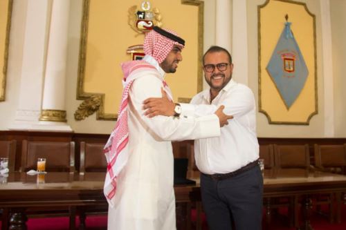
[[[194,141],[194,157],[201,171],[201,196],[212,230],[261,229],[263,178],[258,166],[255,98],[250,88],[232,79],[228,50],[212,46],[203,56],[210,88],[181,104],[182,115],[212,114],[218,106],[233,115],[219,137]],[[145,115],[172,115],[172,102],[149,98]]]

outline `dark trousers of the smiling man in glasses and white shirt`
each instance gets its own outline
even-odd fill
[[[259,166],[224,180],[201,174],[201,195],[210,230],[262,229],[263,178]]]

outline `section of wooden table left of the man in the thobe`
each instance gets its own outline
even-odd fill
[[[104,207],[104,173],[47,173],[27,175],[10,173],[0,184],[0,208],[10,229],[26,229],[26,210],[30,207],[66,207],[74,217],[76,207]],[[8,218],[10,215],[10,218]],[[2,229],[8,222],[3,221]],[[70,229],[75,218],[70,218]]]

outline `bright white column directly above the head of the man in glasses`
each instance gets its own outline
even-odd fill
[[[231,0],[217,0],[215,11],[215,44],[232,54]]]

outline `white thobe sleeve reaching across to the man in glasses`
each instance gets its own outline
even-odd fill
[[[138,77],[129,90],[129,97],[134,113],[156,135],[163,140],[194,140],[199,138],[217,137],[220,135],[219,118],[214,115],[201,117],[166,117],[158,115],[149,118],[144,115],[143,101],[148,97],[161,97],[161,79],[150,74]],[[143,74],[143,73],[142,73]]]

